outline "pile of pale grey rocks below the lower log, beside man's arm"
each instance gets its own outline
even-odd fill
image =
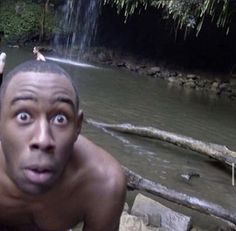
[[[130,213],[123,212],[119,231],[188,231],[190,227],[190,217],[138,194]]]

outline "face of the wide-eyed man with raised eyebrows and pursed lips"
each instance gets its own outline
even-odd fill
[[[26,193],[48,191],[68,164],[80,131],[72,84],[59,74],[18,73],[0,116],[7,174]]]

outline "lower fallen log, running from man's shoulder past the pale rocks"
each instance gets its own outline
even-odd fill
[[[177,192],[172,189],[143,178],[137,173],[123,166],[127,177],[127,186],[132,190],[140,190],[162,197],[168,201],[183,205],[185,207],[197,210],[199,212],[214,215],[233,224],[230,226],[236,230],[236,213],[226,210],[220,205]]]

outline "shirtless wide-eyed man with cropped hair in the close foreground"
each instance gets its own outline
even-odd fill
[[[0,230],[117,231],[126,192],[120,164],[80,135],[70,76],[28,61],[0,92]]]

